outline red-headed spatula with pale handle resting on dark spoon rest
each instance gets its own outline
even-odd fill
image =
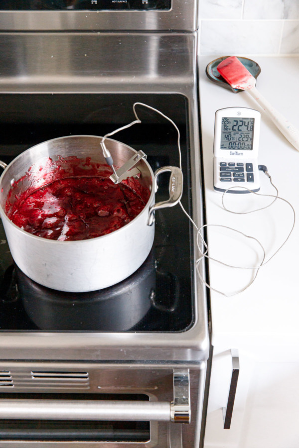
[[[299,151],[299,130],[260,94],[255,87],[256,79],[236,56],[224,59],[217,66],[217,70],[231,87],[248,92],[268,113],[287,140]]]

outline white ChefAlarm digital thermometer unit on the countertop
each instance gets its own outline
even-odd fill
[[[259,191],[258,151],[261,114],[226,108],[215,113],[214,189],[229,193]],[[245,188],[244,188],[245,187]]]

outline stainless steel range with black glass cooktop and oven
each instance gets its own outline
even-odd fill
[[[142,102],[180,130],[181,201],[201,224],[196,29],[194,0],[0,0],[0,159],[107,134]],[[139,114],[117,139],[153,170],[178,166],[171,123]],[[133,275],[76,294],[26,277],[1,227],[1,448],[199,447],[209,333],[195,237],[179,206],[155,218]]]

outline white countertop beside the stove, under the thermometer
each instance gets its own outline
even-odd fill
[[[299,127],[299,57],[251,58],[262,69],[257,79],[258,90]],[[214,59],[216,56],[199,57],[207,224],[231,226],[258,238],[265,247],[266,260],[283,243],[293,224],[292,211],[282,201],[277,201],[266,210],[243,216],[222,209],[222,194],[213,190],[214,116],[216,110],[233,106],[252,108],[262,113],[259,164],[267,165],[279,196],[291,202],[298,221],[285,246],[260,269],[255,282],[246,291],[229,298],[211,291],[212,342],[223,344],[224,348],[255,343],[299,347],[299,151],[293,148],[266,112],[246,92],[234,94],[207,78],[205,68]],[[275,194],[269,179],[261,171],[260,179],[259,193]],[[264,201],[253,194],[226,197],[227,204],[239,210],[248,210],[253,205],[258,207]],[[252,240],[245,241],[237,233],[208,227],[208,242],[209,255],[224,262],[247,266],[258,262],[257,245]],[[209,269],[211,285],[228,294],[246,286],[252,275],[252,271],[227,268],[212,261],[209,262]]]

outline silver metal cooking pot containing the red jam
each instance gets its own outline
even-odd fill
[[[102,137],[92,135],[55,138],[27,149],[8,166],[0,162],[0,166],[5,167],[0,177],[0,216],[11,255],[21,271],[48,288],[67,292],[95,291],[129,277],[149,255],[154,238],[155,210],[174,206],[181,198],[183,178],[180,169],[166,166],[153,174],[143,158],[136,168],[140,171],[139,182],[149,190],[148,203],[134,220],[118,230],[97,238],[56,241],[32,235],[9,220],[4,212],[8,195],[13,202],[15,195],[50,182],[51,170],[40,176],[49,158],[76,156],[82,159],[84,166],[86,157],[90,157],[95,163],[106,164],[101,140]],[[137,153],[113,139],[107,138],[105,143],[119,167]],[[165,171],[170,172],[169,199],[155,204],[156,180]]]

